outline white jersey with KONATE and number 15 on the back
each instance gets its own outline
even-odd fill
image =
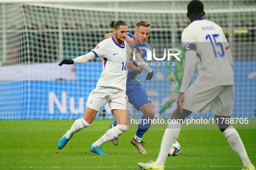
[[[184,46],[195,44],[199,72],[196,82],[212,86],[234,85],[232,64],[229,61],[232,61],[232,56],[226,52],[229,44],[219,25],[206,19],[195,20],[184,29],[181,40]]]

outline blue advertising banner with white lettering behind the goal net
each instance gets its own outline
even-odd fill
[[[150,63],[149,63],[150,64]],[[151,66],[151,65],[150,65]],[[55,81],[0,81],[0,119],[77,119],[82,117],[86,108],[87,97],[95,88],[100,76],[102,62],[90,62],[75,65],[75,80],[56,79]],[[152,80],[146,81],[146,72],[139,76],[140,82],[148,92],[155,112],[169,100],[171,82],[167,79],[165,66],[154,66]],[[92,71],[95,70],[95,71]],[[234,61],[235,102],[233,117],[252,118],[256,110],[256,61]],[[54,73],[54,72],[52,72]],[[197,72],[193,76],[195,80]],[[169,118],[176,108],[174,102],[164,113]],[[113,118],[108,107],[100,110],[106,118]],[[136,109],[132,109],[131,117],[141,117]],[[193,118],[202,114],[192,113]],[[204,117],[213,114],[207,112]]]

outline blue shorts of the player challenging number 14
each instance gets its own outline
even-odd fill
[[[126,85],[126,95],[128,96],[129,103],[133,104],[137,110],[144,104],[151,103],[149,95],[143,85],[139,82],[132,85]]]

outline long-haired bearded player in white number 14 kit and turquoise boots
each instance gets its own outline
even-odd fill
[[[73,60],[63,60],[59,64],[62,66],[62,64],[85,63],[95,57],[102,57],[104,60],[103,72],[100,74],[96,88],[87,99],[84,116],[81,119],[75,120],[71,129],[58,141],[58,149],[62,149],[73,137],[74,133],[90,126],[97,112],[107,103],[109,103],[111,112],[117,120],[117,126],[109,129],[100,139],[91,144],[90,151],[99,155],[107,155],[102,151],[101,145],[118,138],[118,136],[128,129],[129,110],[125,93],[127,78],[126,63],[132,49],[125,43],[125,37],[128,31],[126,22],[119,20],[110,24],[113,24],[114,36],[112,38],[101,41],[88,54]],[[130,53],[129,50],[131,51]],[[137,57],[137,62],[143,61],[141,57]],[[148,74],[149,79],[151,79],[153,76],[152,69],[149,66],[143,69],[151,72],[151,74]]]

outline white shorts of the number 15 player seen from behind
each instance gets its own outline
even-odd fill
[[[207,110],[218,116],[233,113],[234,85],[200,86],[193,83],[184,94],[183,108],[194,113],[205,114]]]

